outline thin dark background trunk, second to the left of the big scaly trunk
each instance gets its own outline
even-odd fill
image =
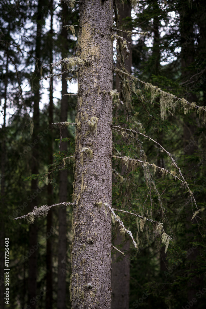
[[[50,1],[50,55],[49,62],[53,63],[53,0]],[[49,90],[49,125],[51,126],[53,123],[53,77],[50,79],[50,90]],[[53,134],[52,130],[48,134],[48,152],[49,152],[49,163],[53,163]],[[49,174],[48,178],[51,178],[51,174]],[[53,187],[52,184],[48,184],[47,186],[48,193],[48,205],[52,205],[53,202]],[[49,210],[47,215],[47,233],[50,233],[52,229],[52,209]],[[50,234],[48,234],[50,235]],[[53,303],[53,276],[52,276],[52,237],[48,237],[47,246],[46,246],[46,309],[52,309]]]

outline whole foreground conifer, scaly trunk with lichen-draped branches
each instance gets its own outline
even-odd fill
[[[65,2],[69,2],[70,6],[74,5],[74,1]],[[137,5],[136,1],[131,2],[134,6]],[[194,194],[177,162],[159,141],[147,135],[145,128],[138,119],[139,113],[132,110],[132,94],[141,100],[143,106],[142,98],[143,94],[145,95],[145,91],[151,93],[152,102],[159,98],[158,107],[160,107],[161,117],[158,118],[158,121],[160,123],[163,122],[166,113],[174,115],[175,108],[180,103],[183,108],[197,110],[204,116],[204,119],[205,108],[190,103],[183,98],[180,99],[171,93],[161,90],[157,86],[153,86],[129,74],[124,69],[123,61],[120,61],[120,68],[113,67],[113,39],[122,41],[122,47],[128,53],[128,42],[117,34],[119,30],[114,30],[112,24],[113,9],[115,16],[117,15],[116,1],[112,3],[110,0],[87,0],[85,2],[80,1],[78,4],[80,19],[76,57],[65,58],[52,64],[53,67],[60,64],[62,68],[66,66],[67,70],[62,73],[72,72],[74,74],[69,80],[72,78],[78,79],[75,153],[73,156],[64,158],[64,161],[66,159],[68,161],[69,159],[74,160],[73,203],[61,203],[74,206],[70,298],[72,308],[110,308],[111,248],[114,248],[111,244],[111,218],[120,227],[120,232],[122,234],[126,233],[130,237],[135,248],[137,248],[139,241],[138,233],[143,233],[149,241],[149,228],[146,226],[147,224],[148,226],[150,224],[149,227],[153,226],[153,232],[156,237],[162,239],[162,244],[166,246],[165,252],[170,240],[172,237],[174,238],[174,232],[165,214],[161,195],[149,168],[154,168],[154,172],[158,170],[162,176],[170,175],[174,177],[175,181],[180,181],[190,194],[194,211],[193,218],[200,213]],[[70,25],[70,27],[72,26]],[[74,31],[74,26],[72,29]],[[132,35],[131,31],[126,31],[126,34],[128,36]],[[141,35],[146,36],[149,34],[144,32]],[[122,54],[119,57],[123,59]],[[116,90],[112,90],[112,70],[120,78],[121,96]],[[53,76],[57,76],[57,74],[50,74],[48,77]],[[141,85],[144,85],[145,90],[141,90]],[[112,123],[112,98],[114,99],[114,110],[118,104],[124,104],[127,117],[126,121],[122,117],[121,125],[116,120],[116,123]],[[147,111],[146,108],[145,110]],[[149,112],[148,117],[151,117]],[[132,118],[131,121],[129,121],[130,118]],[[69,125],[69,123],[66,122],[65,125]],[[115,148],[116,145],[112,147],[111,129],[114,130],[114,135],[116,134],[115,138],[121,136],[129,141],[129,147],[128,145],[123,145],[122,147],[124,156]],[[140,140],[141,138],[142,140]],[[169,170],[169,167],[166,169],[165,167],[157,166],[155,163],[148,162],[142,146],[145,140],[148,140],[148,144],[154,143],[168,157],[170,162],[168,166],[171,166],[171,170]],[[139,202],[139,206],[136,207],[136,205],[136,210],[133,212],[130,209],[122,210],[119,207],[112,209],[111,207],[111,158],[120,160],[131,173],[136,168],[138,170],[141,168],[143,171],[142,176],[144,175],[145,177],[145,187],[144,190],[140,189],[142,197],[137,200],[135,190],[133,192],[130,191],[129,197],[124,196],[124,205],[126,202],[130,203],[130,198],[134,200],[133,204],[136,201]],[[124,178],[117,171],[113,172],[117,179],[124,183]],[[128,180],[129,177],[127,177],[127,182],[125,181],[124,183],[125,187],[128,185]],[[135,185],[135,181],[132,184]],[[121,190],[121,192],[124,192],[123,185]],[[150,199],[147,201],[148,196]],[[130,204],[132,205],[132,203]],[[156,221],[153,218],[152,211],[153,208],[157,208],[157,205],[160,209],[158,212],[162,214],[161,219],[164,218],[168,224],[167,230],[164,230],[163,222]],[[33,220],[35,216],[39,217],[42,214],[46,214],[48,209],[53,206],[42,206],[39,209],[34,209],[32,214],[25,215],[22,218]],[[120,216],[122,213],[126,213],[136,218],[138,229],[136,234],[137,243],[134,241],[131,231],[125,228],[120,216],[117,216],[115,211]],[[134,222],[132,224],[134,225]],[[171,236],[168,235],[169,230]]]

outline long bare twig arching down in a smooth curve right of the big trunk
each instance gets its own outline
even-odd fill
[[[112,125],[112,127],[113,127],[113,128],[122,129],[122,130],[125,130],[125,131],[129,131],[129,132],[132,132],[132,133],[140,134],[140,135],[144,136],[145,138],[149,138],[149,140],[153,141],[155,144],[157,144],[159,147],[161,147],[161,148],[162,148],[161,151],[162,151],[162,152],[164,152],[164,151],[166,152],[166,154],[168,155],[168,157],[169,157],[169,158],[171,159],[171,161],[172,161],[172,165],[173,165],[176,169],[178,169],[179,175],[182,177],[183,183],[184,183],[184,185],[187,187],[187,189],[188,189],[188,191],[189,191],[189,193],[190,193],[190,196],[192,196],[192,199],[193,199],[193,201],[194,201],[194,203],[195,203],[195,207],[197,208],[198,212],[201,211],[200,209],[198,209],[197,204],[196,204],[196,201],[195,201],[195,198],[194,198],[194,195],[193,195],[192,191],[190,190],[190,188],[189,188],[189,186],[188,186],[186,180],[184,179],[183,174],[182,174],[182,172],[181,172],[179,166],[177,165],[176,161],[172,158],[172,155],[171,155],[162,145],[160,145],[160,143],[156,142],[153,138],[150,138],[149,136],[147,136],[147,135],[145,135],[145,134],[143,134],[143,133],[141,133],[141,132],[139,132],[139,131],[135,131],[135,130],[132,130],[132,129],[127,129],[127,128],[122,128],[122,127],[120,127],[119,125],[118,125],[118,126]],[[133,159],[133,160],[134,160],[134,159]],[[149,163],[148,163],[148,164],[149,164]],[[173,175],[173,176],[175,176],[175,175]],[[176,177],[176,178],[177,178],[177,177]]]

